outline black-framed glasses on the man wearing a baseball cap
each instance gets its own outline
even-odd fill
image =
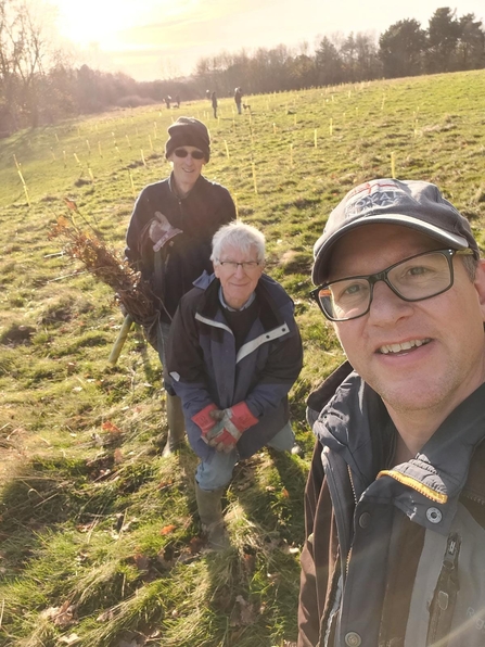
[[[384,281],[403,301],[424,301],[446,292],[454,284],[455,255],[473,255],[473,250],[435,250],[416,254],[376,274],[323,283],[310,294],[331,321],[357,319],[369,312],[378,281]]]

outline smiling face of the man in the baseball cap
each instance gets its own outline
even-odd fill
[[[329,280],[374,274],[444,248],[407,227],[366,225],[335,243]],[[335,324],[352,366],[391,414],[449,413],[485,381],[484,262],[474,282],[461,258],[452,263],[447,292],[409,303],[379,281],[367,315]]]

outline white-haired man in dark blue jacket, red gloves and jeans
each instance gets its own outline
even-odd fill
[[[224,547],[221,496],[240,458],[265,445],[297,449],[288,393],[302,369],[293,302],[264,274],[265,238],[242,223],[213,239],[204,272],[174,318],[168,371],[182,401],[199,515],[209,545]]]

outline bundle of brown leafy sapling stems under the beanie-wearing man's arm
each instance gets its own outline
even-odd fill
[[[78,213],[75,203],[72,204],[75,208],[67,205],[68,208]],[[87,223],[85,218],[84,221]],[[49,238],[64,240],[65,254],[80,261],[90,274],[110,286],[115,292],[115,301],[136,324],[150,326],[155,320],[158,315],[155,307],[158,300],[150,282],[118,252],[110,249],[89,224],[87,229],[81,229],[74,218],[61,216]]]

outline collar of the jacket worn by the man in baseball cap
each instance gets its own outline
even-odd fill
[[[485,504],[484,396],[482,384],[448,416],[414,458],[391,470],[382,468],[396,432],[392,431],[381,398],[357,373],[352,372],[336,389],[314,431],[322,445],[349,466],[357,498],[367,489],[378,497],[387,491],[395,505],[424,525],[429,524],[426,510],[435,505],[446,531],[461,494]],[[469,474],[475,451],[477,456]]]

